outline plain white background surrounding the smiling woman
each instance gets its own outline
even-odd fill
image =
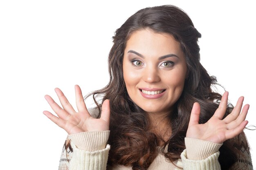
[[[202,65],[250,104],[256,125],[255,16],[253,1],[0,1],[0,169],[58,169],[67,133],[52,123],[44,95],[59,87],[71,104],[74,85],[83,94],[108,83],[107,57],[114,31],[145,7],[174,4],[202,34]],[[90,100],[86,104],[90,104]],[[256,166],[254,130],[245,130]]]

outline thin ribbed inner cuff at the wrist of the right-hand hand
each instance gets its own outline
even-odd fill
[[[203,160],[218,152],[222,144],[185,137],[186,157],[191,160]]]

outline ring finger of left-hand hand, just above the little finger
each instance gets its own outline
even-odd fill
[[[58,104],[56,104],[56,102],[54,101],[54,99],[52,99],[51,96],[45,95],[45,99],[51,106],[52,110],[58,115],[58,117],[60,117],[61,119],[65,119],[65,120],[68,117],[70,117],[70,114],[68,114],[65,110],[63,110],[63,108],[58,106]]]

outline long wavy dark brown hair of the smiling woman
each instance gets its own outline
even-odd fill
[[[102,101],[110,99],[110,137],[108,143],[111,149],[108,165],[121,164],[132,166],[133,170],[146,170],[157,155],[159,136],[149,129],[150,121],[144,110],[139,108],[129,97],[123,77],[123,58],[126,42],[137,30],[150,29],[156,33],[168,33],[180,42],[189,70],[185,80],[184,90],[175,103],[175,109],[168,116],[171,123],[171,136],[164,141],[168,152],[164,156],[173,163],[180,158],[185,149],[184,137],[189,124],[189,117],[194,102],[201,106],[200,124],[207,122],[218,108],[222,95],[212,90],[217,84],[216,77],[209,76],[200,64],[200,48],[198,38],[201,34],[195,29],[189,16],[172,5],[148,7],[137,11],[116,30],[113,36],[113,46],[108,57],[110,81],[98,91],[90,93],[100,112]],[[102,96],[102,101],[97,97]],[[233,106],[227,105],[225,117]],[[237,161],[240,151],[232,146],[247,141],[244,133],[236,139],[224,142],[220,148],[219,162],[222,170],[229,169]],[[248,145],[247,145],[248,146]]]

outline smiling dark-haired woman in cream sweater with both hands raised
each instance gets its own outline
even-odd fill
[[[60,89],[63,109],[45,96],[58,117],[43,113],[69,134],[59,169],[252,169],[249,105],[242,109],[240,97],[233,107],[227,92],[211,90],[216,78],[200,64],[200,37],[175,6],[128,18],[113,37],[109,84],[88,95],[97,109],[88,112],[77,85],[78,113]]]

